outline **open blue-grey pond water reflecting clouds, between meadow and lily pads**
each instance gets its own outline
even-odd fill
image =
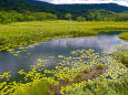
[[[18,72],[21,68],[29,70],[30,64],[37,64],[38,59],[48,59],[46,65],[52,65],[59,62],[56,59],[58,55],[69,56],[71,51],[92,49],[96,52],[114,52],[121,46],[128,48],[128,42],[118,38],[119,31],[100,33],[95,36],[81,38],[63,38],[50,40],[48,42],[39,43],[38,45],[30,45],[29,48],[19,48],[14,51],[20,51],[18,55],[10,52],[0,53],[0,74],[12,71]],[[33,48],[32,48],[33,46]],[[55,57],[52,57],[55,56]]]

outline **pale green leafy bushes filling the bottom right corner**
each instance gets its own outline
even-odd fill
[[[117,80],[98,77],[82,82],[80,87],[69,87],[66,95],[128,95],[128,74]]]

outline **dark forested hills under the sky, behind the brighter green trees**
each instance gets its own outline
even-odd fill
[[[83,15],[86,11],[91,9],[105,9],[114,12],[128,11],[128,7],[117,3],[100,4],[51,4],[37,0],[0,0],[0,10],[16,10],[22,12],[24,10],[56,13],[60,19],[65,13],[70,12],[73,15]]]

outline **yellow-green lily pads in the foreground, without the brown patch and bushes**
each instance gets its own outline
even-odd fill
[[[7,95],[7,94],[8,95],[22,95],[22,94],[40,95],[42,94],[41,92],[42,88],[47,94],[49,85],[58,85],[61,81],[66,78],[72,82],[77,77],[77,75],[80,76],[79,72],[83,72],[85,68],[92,68],[93,65],[97,65],[99,63],[105,63],[105,65],[108,66],[106,72],[104,72],[104,74],[100,75],[100,77],[102,78],[109,76],[112,78],[114,82],[117,82],[119,75],[122,75],[128,72],[128,68],[125,65],[120,64],[112,56],[102,54],[99,57],[99,54],[95,53],[93,50],[88,50],[88,51],[77,50],[77,51],[72,51],[71,54],[72,56],[68,56],[68,57],[59,55],[58,57],[63,60],[60,63],[57,63],[53,70],[48,70],[45,65],[42,65],[42,62],[47,60],[38,59],[39,63],[37,65],[31,65],[31,71],[24,72],[23,70],[21,70],[18,72],[20,75],[24,76],[23,82],[22,81],[10,82],[9,72],[4,73],[3,75],[0,76],[0,80],[4,78],[3,82],[0,83],[0,94],[1,95]],[[110,78],[106,78],[106,80],[111,81]],[[47,82],[48,85],[47,83],[43,83],[43,81]],[[72,85],[65,85],[61,86],[60,92],[61,94],[66,94],[76,87],[83,89],[86,84],[91,85],[93,82],[95,80],[93,81],[88,80],[81,83],[75,83]],[[32,92],[33,89],[35,92],[31,94],[30,92]]]

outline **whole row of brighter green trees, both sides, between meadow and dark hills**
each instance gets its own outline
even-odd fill
[[[85,14],[73,15],[72,13],[65,13],[62,20],[77,21],[128,21],[128,12],[116,13],[108,10],[92,9],[85,12]],[[21,21],[42,21],[57,20],[57,14],[48,12],[23,11],[17,12],[13,10],[0,11],[0,23],[21,22]]]

